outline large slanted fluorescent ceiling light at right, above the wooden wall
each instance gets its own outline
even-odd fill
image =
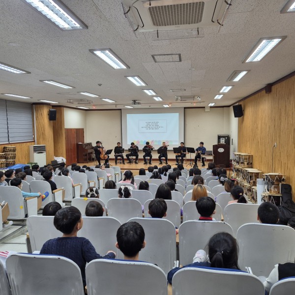
[[[257,44],[253,47],[251,52],[245,57],[245,59],[243,59],[242,62],[245,63],[260,61],[286,38],[287,36],[259,39]]]

